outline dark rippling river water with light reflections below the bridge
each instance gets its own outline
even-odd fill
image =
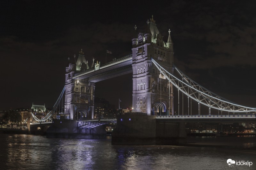
[[[107,139],[0,134],[1,170],[256,169],[256,137],[188,137],[186,146],[111,145]],[[227,159],[252,162],[229,167]],[[232,164],[231,164],[232,165]]]

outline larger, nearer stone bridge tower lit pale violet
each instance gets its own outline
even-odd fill
[[[136,30],[136,26],[134,27]],[[145,33],[139,33],[132,39],[133,89],[132,107],[134,112],[148,115],[173,114],[173,88],[160,71],[154,66],[151,58],[162,67],[173,73],[173,43],[169,37],[164,42],[156,22],[147,21]]]

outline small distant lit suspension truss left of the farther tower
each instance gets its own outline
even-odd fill
[[[65,92],[65,87],[63,88],[62,92],[60,93],[60,96],[59,96],[58,100],[53,105],[52,110],[44,118],[38,119],[33,113],[31,113],[31,115],[33,116],[36,123],[38,123],[38,122],[39,123],[41,123],[41,122],[52,122],[52,114],[57,111],[58,107],[60,108],[60,100],[62,99],[64,92]]]

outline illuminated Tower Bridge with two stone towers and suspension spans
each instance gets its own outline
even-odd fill
[[[135,26],[135,30],[136,28]],[[52,114],[57,112],[58,108],[60,110],[60,103],[64,100],[65,109],[64,112],[61,110],[61,113],[68,119],[74,120],[78,113],[82,118],[90,119],[84,122],[77,121],[76,125],[72,126],[92,128],[106,124],[106,121],[95,122],[96,120],[93,120],[94,90],[97,88],[95,83],[128,73],[132,73],[132,107],[135,113],[156,115],[157,120],[176,122],[188,120],[228,120],[232,122],[232,120],[244,120],[245,118],[255,120],[256,108],[236,104],[210,92],[188,78],[173,64],[173,42],[170,29],[168,32],[168,39],[164,41],[152,17],[146,23],[146,31],[138,33],[137,37],[132,39],[132,54],[115,58],[105,64],[99,61],[94,63],[93,60],[91,68],[81,49],[77,60],[76,58],[75,61],[70,60],[66,67],[65,86],[52,111],[41,120],[32,114],[35,122],[52,122]],[[173,87],[178,89],[176,97],[179,99],[179,104],[178,108],[175,108],[178,110],[178,115],[174,115]],[[180,93],[188,97],[188,115],[180,114]],[[191,106],[189,109],[189,99],[196,101],[198,106],[198,113],[194,115],[190,110]],[[209,109],[208,116],[201,115],[201,105]],[[220,111],[221,115],[211,114],[211,111],[213,113],[216,110]],[[222,115],[223,111],[236,115],[234,117]],[[246,116],[248,114],[252,116]],[[245,115],[245,117],[240,115]]]

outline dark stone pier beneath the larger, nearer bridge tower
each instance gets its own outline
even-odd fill
[[[156,116],[143,113],[127,113],[117,116],[112,144],[183,144],[186,137],[185,123],[156,120]]]

